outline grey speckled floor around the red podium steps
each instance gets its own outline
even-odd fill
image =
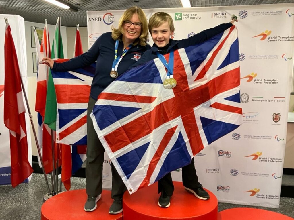
[[[50,178],[49,178],[50,180]],[[84,178],[71,178],[71,190],[83,189],[86,186]],[[21,184],[15,189],[11,186],[0,186],[0,219],[1,220],[39,220],[46,185],[42,174],[33,174],[29,184]],[[251,207],[228,203],[219,203],[219,211],[235,207]],[[252,206],[253,207],[253,206]],[[280,209],[261,208],[275,211],[294,218],[294,198],[281,197]]]

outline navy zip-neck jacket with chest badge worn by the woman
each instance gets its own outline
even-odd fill
[[[151,46],[148,44],[146,46],[136,45],[131,47],[118,65],[118,75],[126,72],[150,48]],[[112,39],[111,32],[103,33],[86,53],[67,62],[54,62],[52,70],[57,72],[76,70],[89,66],[97,61],[90,92],[90,96],[97,100],[98,95],[115,79],[110,77],[112,62],[114,60],[114,49],[115,40]],[[118,44],[118,55],[121,55],[122,52],[123,42],[120,40]]]

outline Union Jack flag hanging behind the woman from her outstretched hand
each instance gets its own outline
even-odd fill
[[[65,62],[68,59],[56,59]],[[87,107],[96,63],[75,71],[51,71],[57,99],[56,143],[87,144]]]

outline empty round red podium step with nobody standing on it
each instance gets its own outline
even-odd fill
[[[219,212],[218,220],[294,220],[289,216],[282,215],[273,211],[268,211],[264,209],[254,209],[254,208],[233,208],[226,209]]]

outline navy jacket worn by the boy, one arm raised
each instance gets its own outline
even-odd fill
[[[150,60],[156,59],[158,57],[156,55],[157,51],[162,54],[167,54],[167,53],[169,53],[171,48],[173,48],[174,50],[178,50],[181,48],[186,48],[191,45],[202,43],[202,42],[208,40],[209,38],[212,38],[213,36],[225,31],[226,29],[230,28],[231,26],[233,26],[233,24],[230,22],[224,23],[224,24],[220,24],[219,26],[216,26],[214,28],[209,28],[204,31],[201,31],[200,33],[195,34],[192,37],[189,37],[187,39],[183,39],[183,40],[170,39],[170,41],[169,41],[170,46],[167,48],[166,53],[163,53],[162,50],[158,49],[158,47],[154,43],[152,48],[150,50],[147,50],[144,53],[144,55],[140,58],[140,60],[138,62],[136,62],[134,65],[132,65],[129,69],[132,69],[134,67],[142,65],[143,63],[146,63]]]

